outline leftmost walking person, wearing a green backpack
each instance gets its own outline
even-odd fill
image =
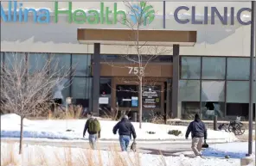
[[[86,131],[89,133],[89,144],[93,150],[96,149],[96,141],[100,138],[100,124],[99,120],[93,117],[92,113],[87,114],[88,120],[83,132],[83,138],[85,138]]]

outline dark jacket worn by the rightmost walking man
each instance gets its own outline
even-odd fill
[[[189,124],[186,132],[186,138],[189,138],[191,132],[192,138],[204,138],[207,139],[207,128],[200,119],[195,119]]]

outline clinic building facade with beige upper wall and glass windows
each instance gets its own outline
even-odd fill
[[[154,18],[141,29],[194,30],[197,41],[195,46],[180,48],[177,110],[171,110],[172,66],[176,63],[172,52],[150,61],[144,77],[144,116],[154,111],[168,112],[172,118],[181,119],[191,119],[195,113],[201,113],[204,120],[214,114],[220,119],[237,115],[247,119],[251,3],[149,2],[149,5]],[[93,91],[93,45],[80,43],[77,29],[125,29],[127,26],[117,22],[117,17],[125,16],[132,22],[130,10],[123,2],[1,2],[1,61],[4,63],[16,53],[28,56],[31,66],[35,65],[35,58],[43,56],[58,58],[61,65],[75,65],[76,71],[67,77],[67,83],[69,79],[72,83],[70,86],[64,83],[59,97],[65,101],[70,96],[74,104],[92,109],[93,93],[98,93]],[[94,15],[93,21],[90,14]],[[126,47],[100,46],[101,110],[138,111],[138,83],[131,71],[135,68],[122,56],[136,56],[136,51],[127,51]],[[166,49],[172,50],[172,46]],[[130,68],[117,68],[124,64]],[[253,94],[256,101],[256,88]]]

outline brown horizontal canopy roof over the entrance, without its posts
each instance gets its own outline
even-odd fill
[[[77,40],[84,44],[135,45],[137,30],[85,29],[77,30]],[[196,31],[138,30],[139,45],[144,46],[194,46]]]

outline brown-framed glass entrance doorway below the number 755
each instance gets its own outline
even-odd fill
[[[137,77],[112,77],[112,108],[118,109],[118,112],[128,114],[139,111],[138,96],[138,78]],[[143,82],[142,109],[143,119],[149,120],[154,114],[164,114],[164,101],[166,92],[164,82],[167,78],[145,77]],[[138,116],[137,116],[138,117]]]

